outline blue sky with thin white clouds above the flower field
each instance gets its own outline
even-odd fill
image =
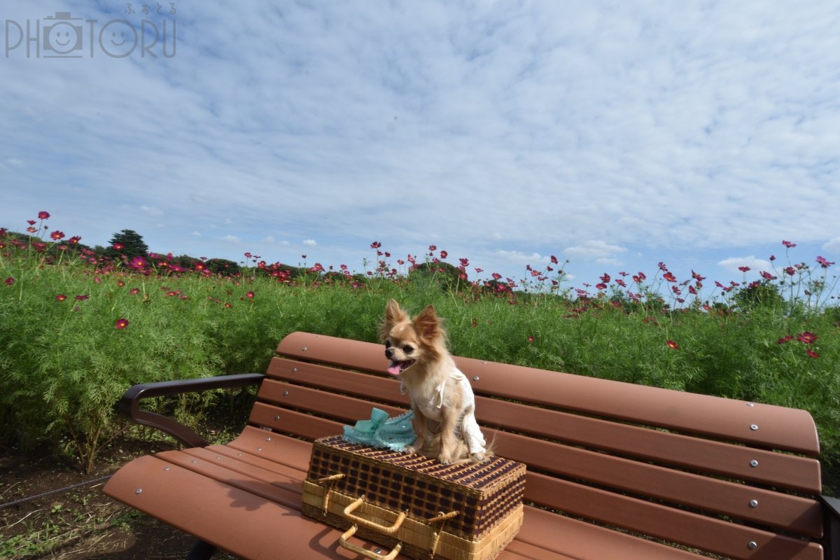
[[[836,2],[148,5],[3,0],[0,226],[570,286],[840,261]]]

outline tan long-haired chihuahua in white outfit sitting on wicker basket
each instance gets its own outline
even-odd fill
[[[434,307],[412,320],[396,301],[388,301],[379,334],[391,361],[388,373],[411,397],[417,440],[407,453],[428,454],[438,447],[441,463],[484,461],[491,452],[475,421],[475,395],[449,355]]]

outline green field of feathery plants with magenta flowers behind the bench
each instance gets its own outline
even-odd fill
[[[433,304],[459,355],[806,409],[827,474],[840,465],[840,312],[822,257],[711,293],[661,264],[651,280],[604,275],[590,291],[564,287],[556,264],[528,282],[468,282],[466,259],[446,264],[436,248],[397,261],[402,272],[373,243],[367,274],[256,259],[212,274],[199,259],[140,265],[0,233],[0,441],[48,441],[88,471],[123,429],[113,404],[130,385],[264,371],[296,330],[374,341],[391,297],[415,312]],[[160,406],[196,422],[216,400]]]

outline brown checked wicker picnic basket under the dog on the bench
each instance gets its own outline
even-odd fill
[[[347,529],[341,546],[367,557],[491,560],[522,526],[524,490],[525,465],[509,459],[445,465],[331,436],[312,447],[302,511]],[[373,554],[354,534],[393,550]]]

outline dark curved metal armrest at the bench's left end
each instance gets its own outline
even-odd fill
[[[158,383],[143,383],[134,385],[125,391],[118,402],[118,410],[123,415],[143,426],[150,426],[168,433],[188,447],[206,447],[210,444],[190,427],[167,416],[150,411],[141,411],[139,402],[158,396],[180,395],[181,393],[196,393],[213,389],[231,389],[255,385],[265,378],[265,374],[235,374],[219,375],[218,377],[204,377],[199,379],[183,379],[180,381],[160,381]]]

